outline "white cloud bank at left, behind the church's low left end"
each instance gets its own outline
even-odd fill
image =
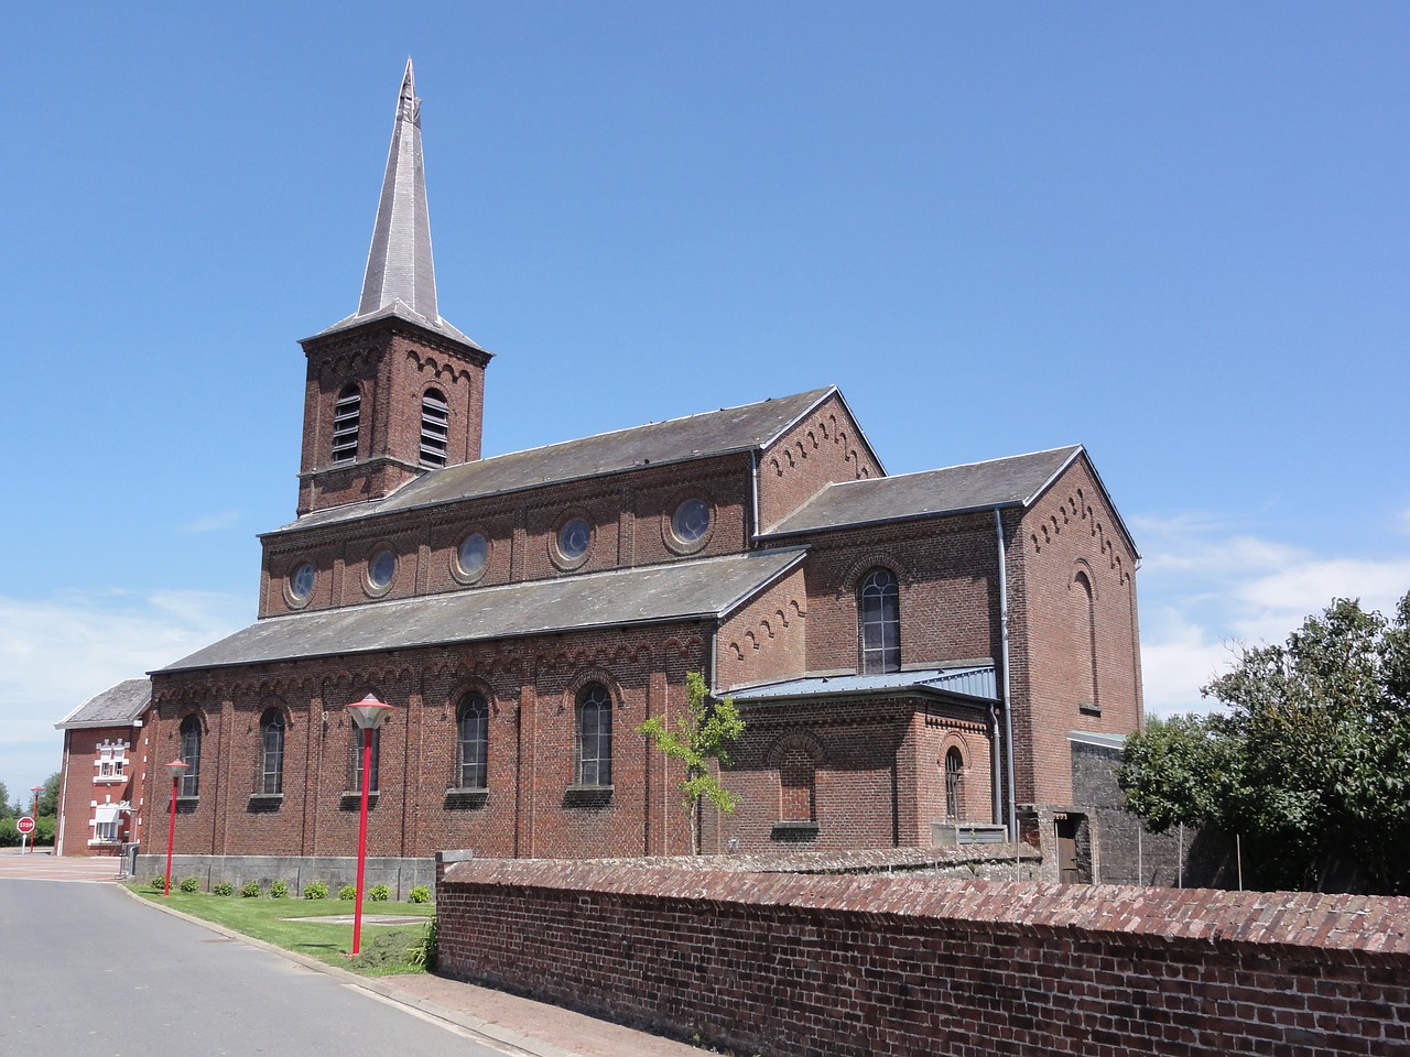
[[[0,596],[0,781],[56,771],[54,724],[109,686],[171,664],[250,622],[248,600],[209,592]]]

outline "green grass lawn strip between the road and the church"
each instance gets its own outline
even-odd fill
[[[128,888],[144,899],[162,903],[173,910],[189,913],[206,922],[223,925],[257,940],[272,943],[285,950],[307,954],[364,977],[388,977],[395,972],[424,972],[422,967],[407,963],[410,950],[426,941],[426,925],[368,925],[371,915],[396,915],[399,917],[434,917],[431,903],[362,903],[362,951],[355,958],[347,957],[352,950],[352,923],[329,925],[319,919],[352,915],[352,903],[345,899],[271,899],[262,895],[245,899],[238,894],[230,896],[209,892],[182,892],[172,878],[172,894],[166,899],[151,885],[130,884]]]

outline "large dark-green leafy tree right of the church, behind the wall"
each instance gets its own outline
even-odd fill
[[[1151,720],[1118,782],[1156,833],[1239,834],[1261,886],[1349,874],[1410,895],[1410,593],[1393,619],[1337,599],[1201,689],[1224,712]]]

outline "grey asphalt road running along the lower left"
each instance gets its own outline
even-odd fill
[[[4,1057],[503,1057],[116,885],[0,881]]]

